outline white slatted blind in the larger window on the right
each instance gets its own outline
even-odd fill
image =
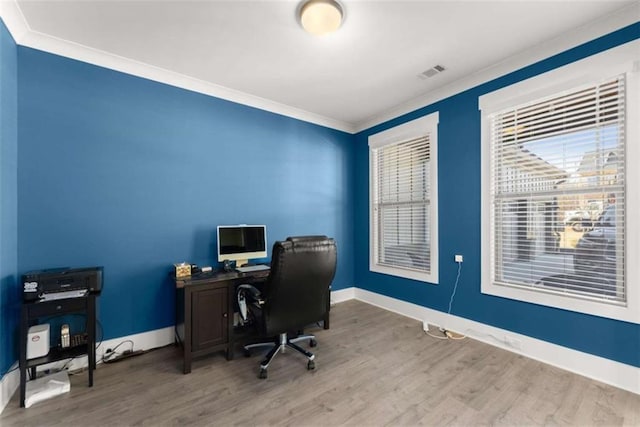
[[[490,114],[496,285],[625,304],[625,76]]]

